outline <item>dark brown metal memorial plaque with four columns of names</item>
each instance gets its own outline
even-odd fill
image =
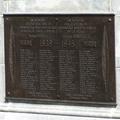
[[[6,101],[116,104],[114,15],[4,15]]]

